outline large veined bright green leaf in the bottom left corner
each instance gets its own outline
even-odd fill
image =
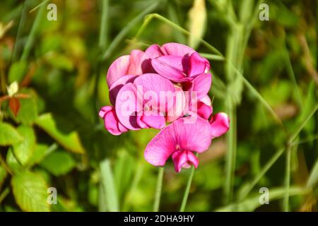
[[[37,174],[23,172],[11,180],[14,198],[23,211],[49,212],[47,203],[47,185]]]

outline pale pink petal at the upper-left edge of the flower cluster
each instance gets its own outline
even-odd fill
[[[125,76],[129,69],[129,55],[125,55],[116,59],[107,71],[107,84],[108,87],[112,85],[118,78]]]

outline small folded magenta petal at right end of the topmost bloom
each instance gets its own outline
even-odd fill
[[[190,56],[190,69],[188,73],[190,77],[207,73],[208,69],[210,69],[210,63],[207,59],[201,57],[197,52],[194,52]]]

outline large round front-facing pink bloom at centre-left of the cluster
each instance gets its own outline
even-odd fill
[[[162,129],[167,113],[177,105],[174,99],[161,98],[167,93],[175,93],[175,86],[167,78],[156,73],[137,76],[133,83],[126,83],[117,93],[115,111],[119,121],[130,130]]]

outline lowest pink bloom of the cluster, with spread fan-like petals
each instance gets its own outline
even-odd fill
[[[212,130],[207,120],[198,117],[192,121],[190,118],[177,119],[148,143],[144,153],[147,162],[163,166],[171,156],[176,172],[191,165],[198,167],[199,160],[194,152],[203,153],[208,149],[212,141]]]

